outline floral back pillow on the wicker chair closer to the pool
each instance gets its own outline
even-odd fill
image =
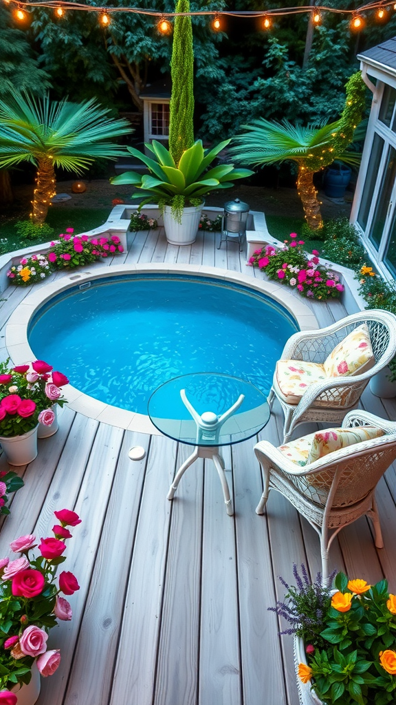
[[[328,377],[347,376],[366,372],[375,362],[369,329],[364,323],[335,346],[323,363],[323,369]]]

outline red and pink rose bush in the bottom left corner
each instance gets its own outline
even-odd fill
[[[80,523],[80,517],[70,510],[56,514],[60,525],[54,525],[54,537],[41,539],[38,544],[33,534],[19,537],[10,544],[20,558],[0,560],[0,705],[16,704],[11,688],[30,681],[33,661],[44,677],[52,675],[61,661],[58,649],[47,651],[47,639],[56,620],[72,618],[72,608],[63,595],[80,589],[71,572],[63,571],[56,585],[56,570],[66,558],[65,541],[71,537],[66,525]],[[63,536],[66,532],[66,536]],[[32,548],[39,556],[30,556]],[[66,578],[65,578],[66,576]]]

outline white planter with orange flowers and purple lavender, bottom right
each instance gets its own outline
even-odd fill
[[[295,636],[302,705],[387,705],[396,697],[396,596],[386,580],[369,585],[340,572],[335,589],[311,583],[296,566],[296,587],[273,608]],[[334,575],[334,574],[333,574]]]

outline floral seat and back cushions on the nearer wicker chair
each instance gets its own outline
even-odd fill
[[[296,441],[290,441],[285,446],[279,446],[280,453],[296,465],[310,465],[319,458],[335,450],[353,446],[354,443],[369,441],[384,435],[383,429],[376,426],[356,426],[349,429],[325,429],[314,434],[302,436]],[[314,478],[313,478],[314,479]]]

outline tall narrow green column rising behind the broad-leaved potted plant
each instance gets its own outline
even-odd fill
[[[190,12],[189,0],[178,0],[176,12]],[[169,124],[169,151],[179,164],[185,149],[194,144],[194,50],[190,16],[175,18],[171,59],[172,95]]]

